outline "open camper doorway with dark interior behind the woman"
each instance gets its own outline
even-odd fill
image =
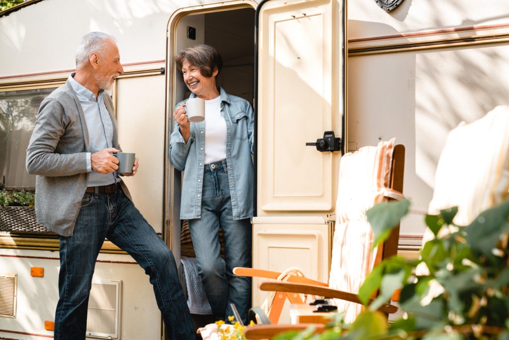
[[[246,1],[194,6],[181,9],[170,19],[166,58],[168,136],[173,128],[172,114],[176,103],[188,98],[191,93],[184,84],[181,73],[175,68],[174,56],[183,48],[197,44],[215,47],[223,59],[217,84],[228,94],[239,96],[253,104],[255,7],[256,3]],[[166,164],[165,241],[173,250],[179,265],[181,256],[192,257],[194,251],[187,223],[180,220],[182,175],[169,161]],[[181,270],[184,271],[183,268]],[[184,273],[182,276],[185,277]],[[185,284],[183,282],[183,285]],[[192,317],[195,327],[214,321],[207,315]]]

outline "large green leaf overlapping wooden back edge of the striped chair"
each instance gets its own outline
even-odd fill
[[[370,222],[375,235],[373,248],[387,239],[392,228],[408,213],[409,207],[410,201],[404,199],[378,203],[366,212],[367,221]]]

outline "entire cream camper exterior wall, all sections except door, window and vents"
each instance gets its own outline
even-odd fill
[[[168,19],[182,7],[213,2],[216,0],[51,0],[27,6],[0,17],[0,86],[67,76],[75,68],[79,39],[90,31],[104,31],[117,38],[122,63],[134,64],[126,65],[126,70],[163,67],[168,58]],[[502,43],[506,39],[502,36],[509,34],[509,2],[405,0],[390,13],[373,0],[350,1],[348,7],[351,49],[394,41],[405,45],[413,39],[431,42],[478,37],[490,30],[501,37],[498,43],[484,45],[430,46],[370,55],[352,53],[349,57],[350,144],[358,148],[397,137],[398,143],[406,146],[404,192],[414,204],[401,233],[419,235],[424,229],[421,214],[431,199],[447,132],[461,120],[472,121],[509,98],[509,79],[503,77],[509,74],[509,47]],[[422,34],[431,31],[434,33]],[[116,93],[121,145],[140,159],[139,174],[128,185],[158,232],[163,231],[165,180],[167,105],[163,79],[120,79]],[[58,258],[58,253],[0,249],[0,268],[18,273],[19,285],[17,316],[2,318],[2,329],[51,335],[44,330],[44,320],[53,320],[58,298],[59,261],[53,258]],[[160,313],[143,270],[132,264],[128,255],[100,254],[99,260],[96,277],[124,282],[122,339],[160,339]],[[31,266],[45,268],[45,277],[31,277]],[[0,332],[0,337],[35,338],[7,332]]]

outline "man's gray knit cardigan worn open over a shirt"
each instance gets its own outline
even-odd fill
[[[113,124],[112,146],[119,150],[113,103],[103,95]],[[37,222],[71,236],[87,189],[89,133],[79,99],[69,81],[41,103],[34,132],[26,150],[26,170],[36,177]],[[131,199],[123,181],[124,193]]]

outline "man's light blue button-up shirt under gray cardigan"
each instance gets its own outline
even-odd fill
[[[104,91],[101,90],[96,99],[92,91],[73,79],[74,74],[75,73],[69,75],[69,82],[78,96],[89,131],[89,150],[91,152],[87,155],[87,168],[90,171],[87,186],[107,186],[117,181],[117,172],[101,174],[92,171],[91,161],[92,153],[112,147],[113,124],[111,123],[111,118],[109,117],[108,110],[102,98],[103,95],[107,94],[104,94]]]

